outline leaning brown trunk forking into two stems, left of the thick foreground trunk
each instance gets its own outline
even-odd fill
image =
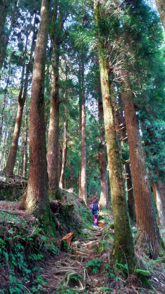
[[[30,67],[32,63],[32,57],[33,57],[33,47],[34,47],[34,41],[35,41],[35,21],[36,21],[36,15],[35,15],[34,26],[33,26],[33,39],[31,44],[30,58],[26,66],[26,75],[25,75],[24,88],[23,88],[25,62],[26,62],[26,54],[27,54],[27,43],[28,43],[28,36],[30,34],[30,31],[26,33],[26,45],[25,45],[24,60],[23,60],[23,66],[22,66],[21,84],[20,84],[20,90],[18,95],[18,110],[17,110],[16,124],[14,128],[14,134],[13,134],[13,139],[11,143],[9,157],[4,169],[5,174],[8,176],[13,175],[14,165],[16,162],[16,154],[18,149],[18,139],[19,139],[20,130],[21,130],[23,107],[26,101],[26,94],[27,94],[27,88],[28,88],[28,76],[29,76]]]

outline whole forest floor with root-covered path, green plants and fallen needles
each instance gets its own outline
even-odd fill
[[[77,195],[63,190],[63,203],[50,204],[59,236],[53,238],[44,234],[36,218],[19,209],[17,200],[25,186],[19,191],[19,183],[16,185],[10,183],[12,201],[7,201],[10,197],[4,188],[0,190],[1,294],[165,293],[165,256],[151,260],[145,248],[135,245],[141,272],[155,290],[146,290],[135,275],[125,279],[122,265],[114,266],[110,260],[114,236],[110,212],[101,211],[99,227],[93,227],[89,208]],[[62,240],[68,233],[69,245]],[[136,239],[135,225],[132,233]],[[161,234],[164,237],[165,232]]]

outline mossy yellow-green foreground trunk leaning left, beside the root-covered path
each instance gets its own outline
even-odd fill
[[[114,217],[113,257],[118,263],[127,264],[128,271],[134,272],[134,242],[131,232],[129,212],[125,195],[122,158],[119,154],[117,135],[113,117],[113,101],[110,93],[109,75],[105,57],[104,42],[100,36],[101,12],[98,0],[94,0],[95,26],[98,35],[98,55],[100,65],[100,81],[105,121],[105,136],[110,175],[112,211]]]

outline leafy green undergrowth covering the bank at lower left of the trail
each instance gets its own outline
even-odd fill
[[[26,215],[25,215],[26,214]],[[23,211],[0,211],[0,293],[41,293],[46,283],[38,262],[58,253],[55,239]]]

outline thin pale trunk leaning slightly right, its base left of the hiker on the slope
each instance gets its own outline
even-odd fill
[[[68,144],[68,118],[67,118],[67,108],[65,107],[62,169],[61,169],[61,176],[60,176],[60,183],[59,183],[60,188],[63,188],[64,178],[65,178],[65,167],[66,167],[66,158],[67,158],[67,144]]]

